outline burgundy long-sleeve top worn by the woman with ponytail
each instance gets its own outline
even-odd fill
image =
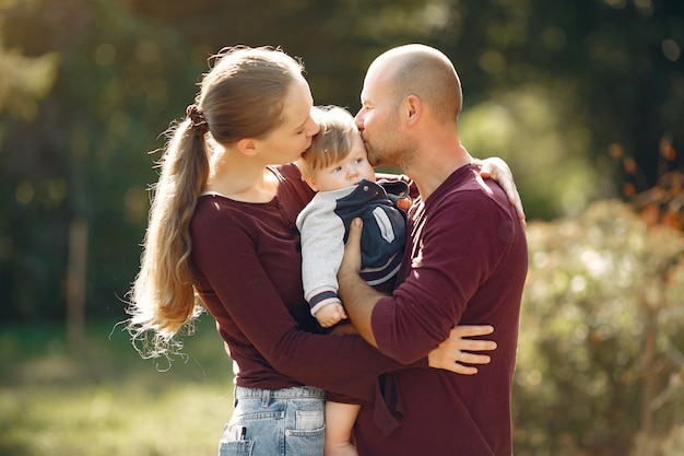
[[[373,401],[377,376],[402,364],[361,337],[323,334],[310,315],[295,220],[314,194],[295,165],[272,171],[280,186],[271,201],[204,195],[191,221],[197,289],[237,364],[236,384],[309,385]]]

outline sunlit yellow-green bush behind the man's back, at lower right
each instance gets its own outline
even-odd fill
[[[516,454],[677,454],[682,232],[649,229],[629,207],[605,201],[578,218],[532,222],[527,234]]]

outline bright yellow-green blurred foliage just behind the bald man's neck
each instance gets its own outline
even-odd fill
[[[611,186],[585,153],[591,147],[587,126],[567,125],[556,107],[561,100],[575,103],[574,94],[552,95],[551,87],[519,86],[493,94],[459,119],[468,150],[504,159],[520,183],[527,213],[542,219],[578,213]]]

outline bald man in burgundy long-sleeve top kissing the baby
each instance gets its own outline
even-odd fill
[[[408,369],[381,378],[391,416],[363,408],[355,426],[362,456],[512,452],[510,391],[527,243],[516,209],[480,177],[459,140],[461,105],[452,63],[431,47],[401,46],[368,68],[356,115],[368,157],[401,167],[420,198],[409,213],[411,238],[392,295],[359,279],[355,221],[338,276],[340,296],[364,339],[406,364],[459,324],[494,326],[488,338],[497,349],[476,375]],[[462,352],[457,362],[472,356]]]

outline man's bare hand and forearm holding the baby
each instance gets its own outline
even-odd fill
[[[362,229],[361,219],[354,219],[350,224],[349,238],[344,246],[344,258],[338,271],[339,295],[346,309],[346,315],[358,334],[366,342],[377,348],[370,317],[373,308],[384,294],[374,290],[358,276],[361,271]]]

